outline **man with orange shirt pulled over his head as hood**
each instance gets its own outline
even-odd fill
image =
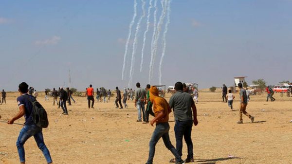
[[[153,110],[155,118],[151,120],[151,126],[156,123],[156,128],[152,134],[150,143],[149,143],[149,157],[146,164],[153,164],[153,158],[155,154],[155,146],[157,142],[162,137],[164,145],[172,152],[176,158],[176,164],[184,164],[181,156],[171,144],[169,139],[169,124],[168,124],[168,114],[171,112],[169,104],[167,101],[159,97],[159,91],[156,87],[152,86],[150,88],[150,101],[153,104]]]

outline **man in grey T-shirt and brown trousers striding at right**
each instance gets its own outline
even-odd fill
[[[248,112],[246,112],[246,106],[247,106],[247,95],[246,95],[246,91],[242,88],[242,84],[238,83],[238,88],[239,88],[239,95],[240,95],[240,107],[239,107],[239,121],[237,122],[237,124],[242,124],[242,113],[246,116],[248,116],[248,118],[251,119],[252,123],[255,120],[255,117],[251,116]]]

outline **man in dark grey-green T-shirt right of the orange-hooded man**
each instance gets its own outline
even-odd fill
[[[194,162],[193,142],[191,138],[193,124],[198,125],[197,108],[192,96],[189,93],[183,92],[183,83],[177,82],[175,84],[176,93],[174,93],[169,100],[170,108],[174,111],[175,118],[175,138],[176,149],[180,156],[183,155],[183,138],[187,146],[187,158],[185,163]],[[175,163],[175,159],[170,161]]]

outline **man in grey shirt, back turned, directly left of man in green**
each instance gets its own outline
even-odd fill
[[[146,100],[146,90],[140,88],[140,83],[136,84],[136,87],[138,88],[135,92],[135,107],[137,107],[138,110],[138,120],[137,122],[142,122],[141,118],[141,110],[143,112],[143,121],[146,122],[146,115],[145,115],[145,100]]]

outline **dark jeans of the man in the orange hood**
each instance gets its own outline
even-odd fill
[[[157,142],[160,140],[162,137],[164,145],[168,150],[172,152],[172,154],[175,156],[175,159],[177,162],[182,161],[181,156],[177,152],[177,150],[174,148],[174,146],[171,144],[170,139],[169,139],[169,124],[168,123],[158,123],[156,124],[156,128],[152,134],[150,143],[149,143],[149,157],[147,164],[152,164],[153,163],[153,158],[155,154],[155,146]]]

